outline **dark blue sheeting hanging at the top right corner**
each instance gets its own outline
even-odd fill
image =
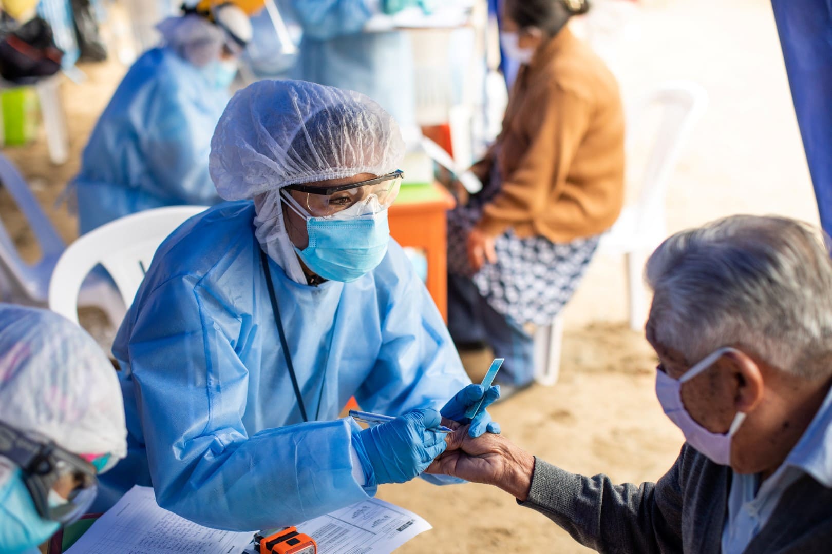
[[[771,0],[820,223],[832,234],[832,0]]]

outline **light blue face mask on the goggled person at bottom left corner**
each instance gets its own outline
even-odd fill
[[[0,552],[18,554],[36,548],[52,537],[59,527],[57,522],[43,519],[37,513],[20,469],[17,469],[0,487]]]

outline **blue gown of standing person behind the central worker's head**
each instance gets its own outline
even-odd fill
[[[358,91],[402,128],[416,125],[414,61],[406,32],[362,32],[366,0],[292,0],[304,29],[296,78]]]

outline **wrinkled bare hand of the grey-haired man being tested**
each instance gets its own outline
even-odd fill
[[[473,439],[460,427],[449,438],[448,449],[426,473],[495,485],[523,501],[532,486],[534,457],[502,435],[486,433]]]

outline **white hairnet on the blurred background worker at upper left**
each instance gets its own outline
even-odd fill
[[[162,39],[168,47],[194,66],[204,67],[220,58],[223,46],[239,54],[243,48],[240,41],[245,42],[246,38],[250,40],[251,22],[245,12],[230,5],[223,6],[223,12],[224,20],[235,22],[236,27],[245,27],[244,23],[247,24],[247,34],[245,29],[238,29],[232,34],[230,27],[216,25],[206,16],[196,13],[166,17],[156,25],[156,29],[161,32]]]

